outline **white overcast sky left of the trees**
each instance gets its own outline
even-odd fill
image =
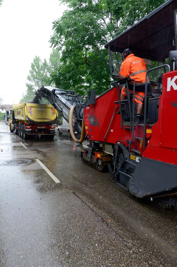
[[[0,97],[19,103],[37,55],[48,60],[52,22],[66,7],[59,0],[4,0],[0,7]],[[5,96],[6,95],[6,96]]]

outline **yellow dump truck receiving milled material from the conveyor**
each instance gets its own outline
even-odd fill
[[[14,105],[11,109],[10,131],[23,139],[28,136],[44,135],[54,138],[54,124],[58,118],[52,105],[25,103]]]

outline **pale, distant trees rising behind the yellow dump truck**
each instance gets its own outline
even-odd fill
[[[28,82],[26,83],[26,94],[20,100],[20,103],[31,102],[35,97],[35,92],[37,89],[40,89],[42,85],[50,85],[50,73],[52,73],[59,65],[60,52],[56,49],[53,49],[52,53],[50,54],[49,63],[46,59],[42,61],[40,57],[36,56],[31,63],[31,69],[29,70],[29,75],[27,76]]]

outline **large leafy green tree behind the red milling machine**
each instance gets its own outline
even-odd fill
[[[156,9],[164,0],[63,0],[68,5],[53,22],[51,46],[62,51],[50,80],[62,89],[97,94],[109,88],[109,40]]]

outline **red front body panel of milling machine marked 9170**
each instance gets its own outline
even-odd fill
[[[90,105],[84,109],[86,134],[90,140],[112,144],[116,143],[118,140],[121,140],[125,145],[128,145],[126,140],[131,139],[132,131],[125,128],[121,129],[120,114],[117,114],[117,111],[119,110],[119,104],[114,103],[114,101],[117,100],[117,89],[114,87],[97,97],[94,105]],[[116,106],[117,108],[111,127],[106,135]],[[105,135],[106,138],[104,139]],[[142,127],[135,127],[135,136],[143,136]],[[140,140],[134,139],[132,148],[140,150],[141,147],[142,143]]]

